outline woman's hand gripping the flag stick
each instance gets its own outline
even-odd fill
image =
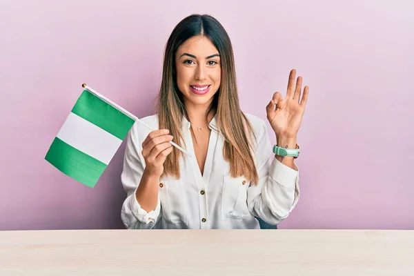
[[[151,131],[144,142],[142,142],[142,156],[146,163],[146,172],[149,175],[161,177],[164,172],[166,157],[172,152],[172,136],[169,130]]]

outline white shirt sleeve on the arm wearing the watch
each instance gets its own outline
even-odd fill
[[[259,181],[248,188],[247,203],[252,215],[277,225],[288,217],[299,200],[299,171],[275,158],[266,123],[263,120],[261,123],[255,149]]]

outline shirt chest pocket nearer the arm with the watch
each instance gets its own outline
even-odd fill
[[[224,175],[221,193],[221,218],[242,219],[250,213],[247,207],[247,188],[250,181],[244,177]]]

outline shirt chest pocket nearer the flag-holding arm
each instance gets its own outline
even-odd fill
[[[161,181],[159,188],[162,219],[167,224],[188,225],[184,185],[181,179]]]

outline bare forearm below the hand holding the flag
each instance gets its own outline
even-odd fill
[[[141,208],[150,212],[158,203],[159,177],[150,175],[146,170],[141,177],[135,197]]]

